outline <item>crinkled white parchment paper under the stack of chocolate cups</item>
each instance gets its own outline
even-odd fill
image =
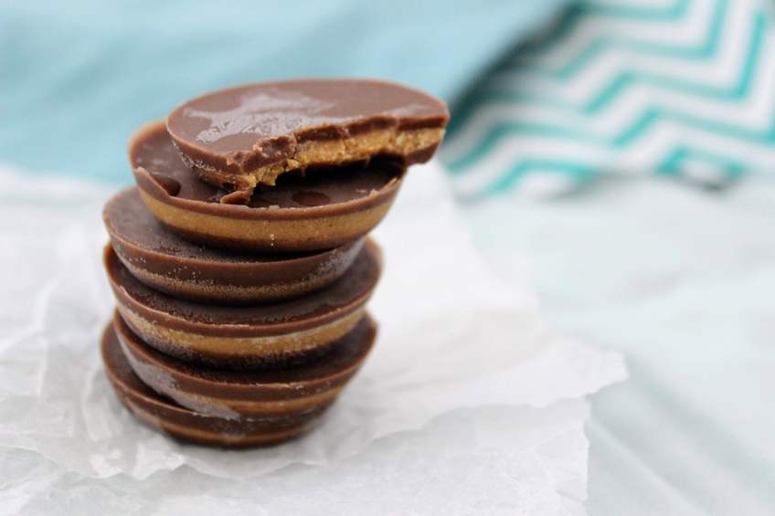
[[[625,376],[621,357],[557,335],[489,274],[437,167],[411,171],[377,229],[364,369],[312,434],[247,451],[178,444],[113,395],[110,192],[0,174],[0,514],[582,511],[584,396]]]

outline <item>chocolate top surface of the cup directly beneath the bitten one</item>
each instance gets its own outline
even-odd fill
[[[199,180],[186,167],[162,122],[149,124],[134,134],[129,159],[135,171],[146,171],[150,176],[147,179],[161,187],[169,197],[206,203],[211,210],[224,212],[241,207],[239,202],[235,203],[238,205],[217,207],[229,192]],[[389,159],[282,174],[275,186],[257,187],[248,205],[269,210],[334,206],[369,197],[388,184],[396,183],[402,174],[403,167]],[[141,187],[144,186],[143,175],[137,175]]]

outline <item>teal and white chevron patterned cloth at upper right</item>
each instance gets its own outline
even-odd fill
[[[574,5],[457,109],[442,159],[458,194],[552,196],[604,174],[723,188],[773,174],[773,5]]]

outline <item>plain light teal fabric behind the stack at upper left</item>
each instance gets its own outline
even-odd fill
[[[454,101],[565,0],[0,0],[0,162],[127,182],[125,143],[181,100],[303,76]]]

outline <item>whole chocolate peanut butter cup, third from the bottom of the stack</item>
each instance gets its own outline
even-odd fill
[[[111,246],[105,269],[122,319],[162,353],[207,366],[257,369],[310,360],[345,335],[377,286],[381,256],[367,241],[341,279],[303,298],[228,307],[175,299],[133,277]]]

